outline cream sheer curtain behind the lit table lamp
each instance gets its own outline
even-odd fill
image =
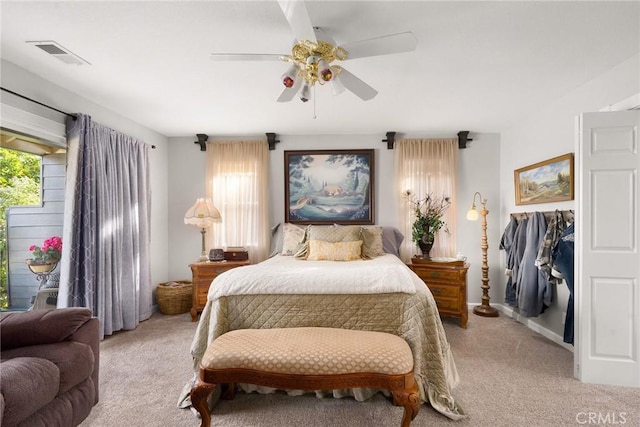
[[[222,222],[206,234],[208,247],[244,246],[252,263],[269,254],[269,148],[266,141],[207,144],[207,197]]]

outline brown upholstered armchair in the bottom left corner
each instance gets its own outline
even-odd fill
[[[77,426],[98,402],[99,321],[86,308],[0,316],[0,425]]]

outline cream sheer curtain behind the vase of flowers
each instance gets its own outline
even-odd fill
[[[395,182],[399,206],[400,231],[405,235],[400,256],[409,261],[419,253],[411,240],[411,225],[415,220],[411,206],[404,196],[410,190],[412,197],[422,198],[426,194],[451,197],[451,206],[445,212],[444,221],[449,233],[444,229],[436,235],[431,249],[432,257],[452,257],[456,253],[456,170],[458,140],[444,139],[401,139],[395,147]]]

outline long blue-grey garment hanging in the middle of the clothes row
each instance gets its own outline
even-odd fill
[[[546,232],[547,220],[544,214],[534,212],[527,223],[527,242],[515,283],[518,308],[526,317],[537,317],[551,305],[551,283],[545,273],[536,266],[538,249]]]

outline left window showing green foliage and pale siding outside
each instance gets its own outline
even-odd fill
[[[27,270],[31,244],[61,235],[65,150],[2,128],[0,308],[27,308],[39,283]]]

